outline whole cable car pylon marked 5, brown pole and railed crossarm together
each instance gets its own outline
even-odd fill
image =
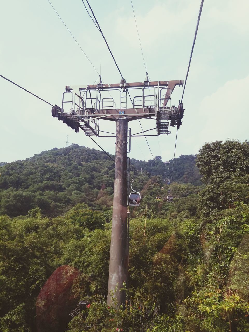
[[[128,142],[130,143],[131,137],[169,135],[169,121],[171,126],[180,127],[184,112],[182,103],[171,106],[171,96],[176,86],[183,86],[183,80],[149,81],[146,75],[143,82],[127,83],[122,77],[120,83],[104,84],[100,77],[97,84],[66,86],[61,108],[55,105],[52,109],[54,118],[62,120],[61,123],[67,124],[76,132],[82,129],[86,136],[116,137],[108,305],[119,307],[125,304],[125,292],[120,289],[124,283],[127,284],[128,278]],[[112,91],[116,93],[117,90],[120,99],[114,100],[110,94]],[[141,128],[142,131],[131,134],[128,122],[140,119],[151,119],[153,124],[156,120],[156,127],[152,126],[145,131]],[[107,131],[105,127],[102,129],[100,124],[103,120],[116,122],[116,133],[114,130]],[[137,201],[135,206],[138,206]],[[113,297],[116,297],[115,301]]]

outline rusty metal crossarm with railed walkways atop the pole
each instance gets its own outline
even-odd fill
[[[62,120],[75,131],[82,129],[87,136],[107,137],[101,135],[100,120],[128,122],[137,119],[156,120],[155,135],[169,135],[168,122],[179,128],[183,118],[182,104],[171,106],[172,92],[176,86],[183,86],[182,80],[149,81],[103,84],[101,76],[97,84],[66,86],[62,96],[62,106],[53,107],[52,115]],[[127,93],[129,98],[127,99]],[[154,136],[154,134],[143,134]],[[140,136],[142,133],[132,134]],[[143,135],[143,136],[144,136]],[[111,136],[111,135],[110,135]]]

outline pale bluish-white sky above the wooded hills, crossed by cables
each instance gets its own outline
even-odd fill
[[[104,83],[120,82],[108,48],[81,0],[50,0]],[[86,3],[86,1],[84,1]],[[145,77],[140,44],[129,0],[89,0],[126,82]],[[200,0],[133,0],[147,70],[152,81],[185,80]],[[185,113],[178,130],[176,157],[195,154],[206,142],[248,136],[249,1],[205,0],[183,97]],[[93,84],[98,74],[48,0],[12,0],[1,4],[0,74],[61,105],[66,85]],[[101,65],[100,65],[101,64]],[[176,87],[178,105],[183,88]],[[52,118],[51,106],[0,77],[0,162],[72,143],[99,147],[80,130]],[[144,129],[148,121],[142,120]],[[104,123],[103,123],[104,122]],[[102,121],[105,127],[106,121]],[[115,130],[115,123],[112,124]],[[102,128],[103,128],[102,127]],[[140,131],[133,121],[132,132]],[[174,155],[171,135],[148,137],[153,156]],[[93,137],[115,154],[115,138]],[[131,158],[148,160],[144,137],[132,138]]]

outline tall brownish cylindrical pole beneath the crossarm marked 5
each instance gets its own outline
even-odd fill
[[[116,159],[113,198],[112,238],[109,265],[107,303],[114,305],[112,295],[116,297],[117,306],[125,303],[123,283],[127,283],[127,119],[116,122]]]

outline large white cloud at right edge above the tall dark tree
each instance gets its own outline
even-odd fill
[[[203,99],[198,118],[202,141],[235,138],[244,140],[249,135],[249,107],[247,103],[249,75],[226,82],[216,92]]]

